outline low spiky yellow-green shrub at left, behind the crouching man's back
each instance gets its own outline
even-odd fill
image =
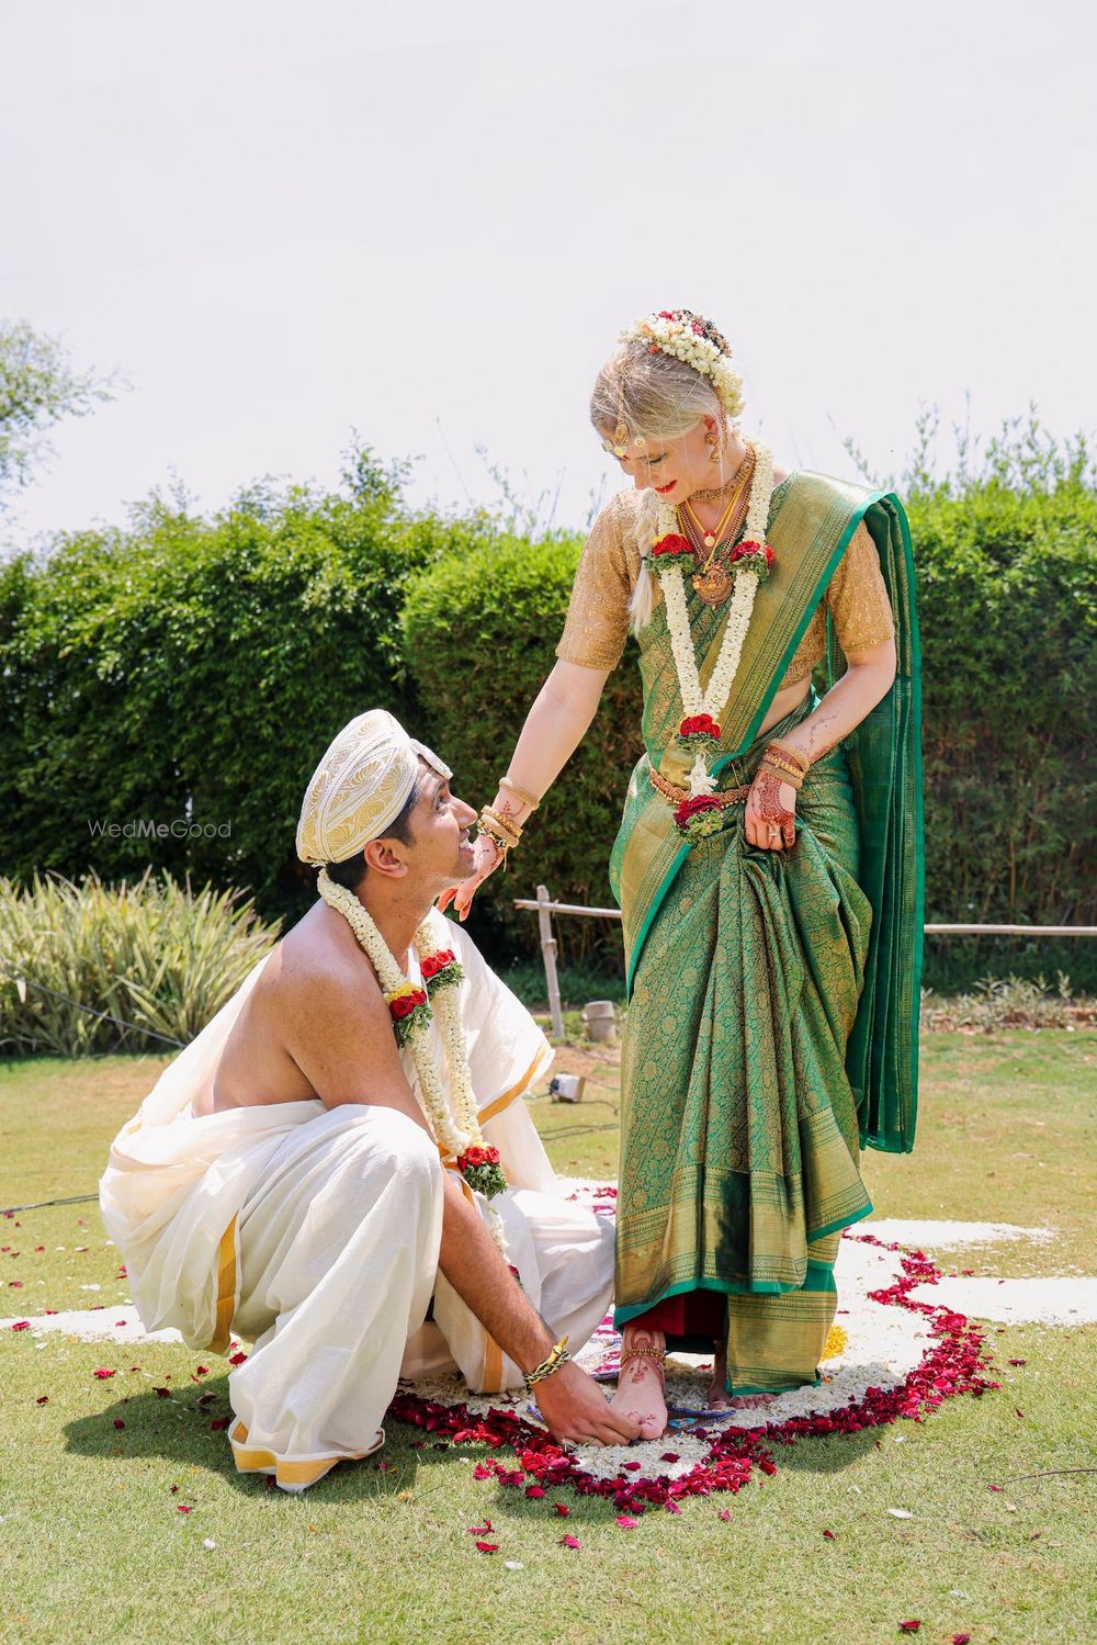
[[[187,1043],[278,938],[238,892],[192,892],[150,873],[132,885],[97,875],[81,885],[35,875],[26,888],[0,880],[0,933],[8,1056],[156,1046],[125,1023]]]

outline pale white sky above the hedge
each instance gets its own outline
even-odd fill
[[[676,304],[778,461],[888,469],[967,392],[1094,428],[1095,46],[1092,0],[0,0],[0,314],[132,383],[16,540],[334,484],[352,428],[582,525],[594,372]]]

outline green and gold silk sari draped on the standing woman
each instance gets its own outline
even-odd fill
[[[681,701],[661,605],[641,637],[648,752],[610,864],[630,989],[615,1318],[620,1326],[687,1291],[724,1293],[737,1393],[814,1380],[840,1230],[872,1209],[859,1147],[913,1145],[918,638],[895,498],[819,475],[778,487],[773,574],[758,589],[709,768],[720,786],[748,783],[765,745],[814,706],[757,735],[862,518],[891,597],[898,676],[863,725],[812,765],[789,854],[752,847],[742,806],[692,847],[678,836],[650,780],[655,765],[684,785],[691,760],[676,744]],[[691,597],[702,684],[724,622]]]

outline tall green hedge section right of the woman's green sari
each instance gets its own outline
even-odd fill
[[[1092,924],[1097,495],[916,497],[911,531],[926,918]]]

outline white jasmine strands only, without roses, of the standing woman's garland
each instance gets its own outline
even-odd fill
[[[765,544],[771,500],[773,452],[768,451],[766,446],[757,446],[755,472],[750,479],[750,502],[747,503],[747,526],[743,531],[745,543],[755,541]],[[674,535],[679,535],[678,512],[669,502],[661,498],[656,515],[656,541]],[[738,564],[735,592],[732,594],[724,638],[720,640],[720,650],[709,684],[702,691],[701,673],[697,670],[697,653],[694,650],[692,632],[689,628],[686,576],[683,566],[676,556],[655,556],[660,584],[663,587],[663,599],[666,602],[666,627],[671,635],[671,653],[674,656],[678,689],[683,701],[683,719],[689,719],[694,714],[707,714],[720,724],[724,721],[735,674],[738,673],[743,640],[747,638],[750,617],[755,609],[755,595],[758,592],[758,577],[752,559],[753,556],[740,561]],[[765,556],[760,556],[758,569],[761,569],[761,563],[765,563]],[[711,795],[714,790],[715,780],[709,776],[704,753],[697,753],[689,773],[689,793],[691,796]]]

